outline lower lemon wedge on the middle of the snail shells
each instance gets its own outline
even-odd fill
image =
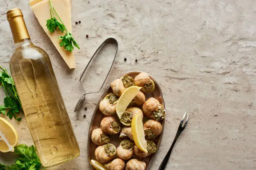
[[[148,153],[141,114],[133,117],[131,129],[135,145],[143,152]]]

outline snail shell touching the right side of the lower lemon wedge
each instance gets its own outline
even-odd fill
[[[145,139],[147,140],[153,140],[162,132],[161,123],[153,119],[147,120],[143,127],[145,132]]]

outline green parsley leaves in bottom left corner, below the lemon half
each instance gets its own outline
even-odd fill
[[[0,170],[40,170],[41,162],[36,153],[36,148],[32,145],[18,145],[14,147],[14,153],[19,155],[13,165],[4,165],[0,163]],[[44,168],[45,169],[45,168]]]

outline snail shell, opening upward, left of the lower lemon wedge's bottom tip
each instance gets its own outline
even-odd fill
[[[134,143],[131,140],[123,140],[116,150],[116,155],[123,160],[130,159],[133,156],[133,146]]]

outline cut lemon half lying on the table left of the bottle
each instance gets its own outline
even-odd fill
[[[13,152],[18,144],[18,134],[10,122],[0,117],[0,152]]]

